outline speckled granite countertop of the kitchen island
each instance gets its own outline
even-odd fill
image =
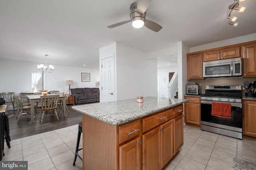
[[[143,103],[137,103],[137,98],[134,98],[72,106],[72,109],[111,125],[120,125],[187,101],[184,99],[144,97]]]

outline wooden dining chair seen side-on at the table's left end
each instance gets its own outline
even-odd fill
[[[31,113],[31,105],[23,105],[18,95],[14,95],[14,98],[18,108],[18,112],[16,115],[17,123],[18,123],[20,121],[20,117],[24,117],[24,116],[28,117],[29,113]],[[35,116],[35,119],[36,119],[36,116]]]

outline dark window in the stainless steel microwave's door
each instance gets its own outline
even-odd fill
[[[231,64],[205,67],[205,75],[220,75],[220,74],[231,74]]]

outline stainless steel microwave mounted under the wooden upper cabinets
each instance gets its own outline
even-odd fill
[[[204,77],[242,76],[242,59],[224,59],[203,62]]]

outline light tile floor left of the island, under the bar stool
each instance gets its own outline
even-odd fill
[[[82,170],[79,158],[73,166],[77,134],[78,125],[74,125],[10,141],[10,149],[4,145],[3,160],[27,160],[28,170]]]

